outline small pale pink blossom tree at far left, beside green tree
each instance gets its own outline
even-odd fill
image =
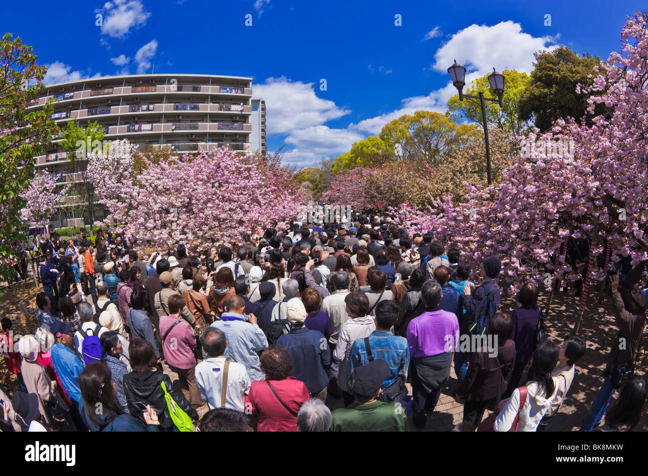
[[[49,224],[50,218],[56,212],[60,199],[65,196],[69,185],[56,187],[56,177],[47,169],[31,179],[29,187],[20,196],[27,200],[25,208],[20,210],[23,223],[43,228]]]

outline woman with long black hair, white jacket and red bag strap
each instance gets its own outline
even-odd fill
[[[536,431],[540,420],[551,406],[556,396],[557,386],[551,372],[558,363],[559,348],[551,341],[544,341],[533,352],[533,362],[526,383],[526,400],[520,408],[520,387],[515,389],[503,409],[498,414],[493,429],[511,431],[517,417],[514,431]],[[500,407],[501,405],[500,404]]]

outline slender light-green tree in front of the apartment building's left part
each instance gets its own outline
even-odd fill
[[[69,209],[75,218],[77,213],[85,215],[86,221],[89,221],[90,234],[93,231],[96,205],[95,188],[87,174],[87,156],[95,148],[102,147],[100,142],[104,138],[104,133],[104,128],[97,122],[89,122],[84,129],[74,120],[69,120],[61,134],[63,137],[61,145],[68,153],[69,167],[75,178],[70,190]]]

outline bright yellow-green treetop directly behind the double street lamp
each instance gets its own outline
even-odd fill
[[[526,73],[518,73],[515,69],[505,69],[504,75],[504,94],[502,96],[502,107],[499,104],[487,102],[486,104],[486,122],[489,129],[500,129],[520,135],[529,131],[529,124],[526,120],[520,119],[518,103],[522,92],[529,83],[529,76]],[[489,74],[481,76],[470,83],[466,94],[478,96],[480,91],[484,96],[496,98],[492,90],[491,83],[488,80]],[[448,100],[448,112],[446,113],[454,122],[475,122],[483,127],[483,118],[481,117],[481,105],[478,100],[463,98],[459,100],[459,95],[454,95]]]

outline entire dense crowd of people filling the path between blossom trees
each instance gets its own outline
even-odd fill
[[[310,225],[145,260],[118,234],[43,236],[39,326],[14,342],[1,323],[20,389],[0,388],[0,429],[422,430],[454,366],[456,431],[551,430],[586,345],[547,338],[535,284],[509,315],[497,256],[473,275],[469,250],[397,219]],[[618,335],[583,431],[631,431],[646,400],[648,294],[611,284]]]

